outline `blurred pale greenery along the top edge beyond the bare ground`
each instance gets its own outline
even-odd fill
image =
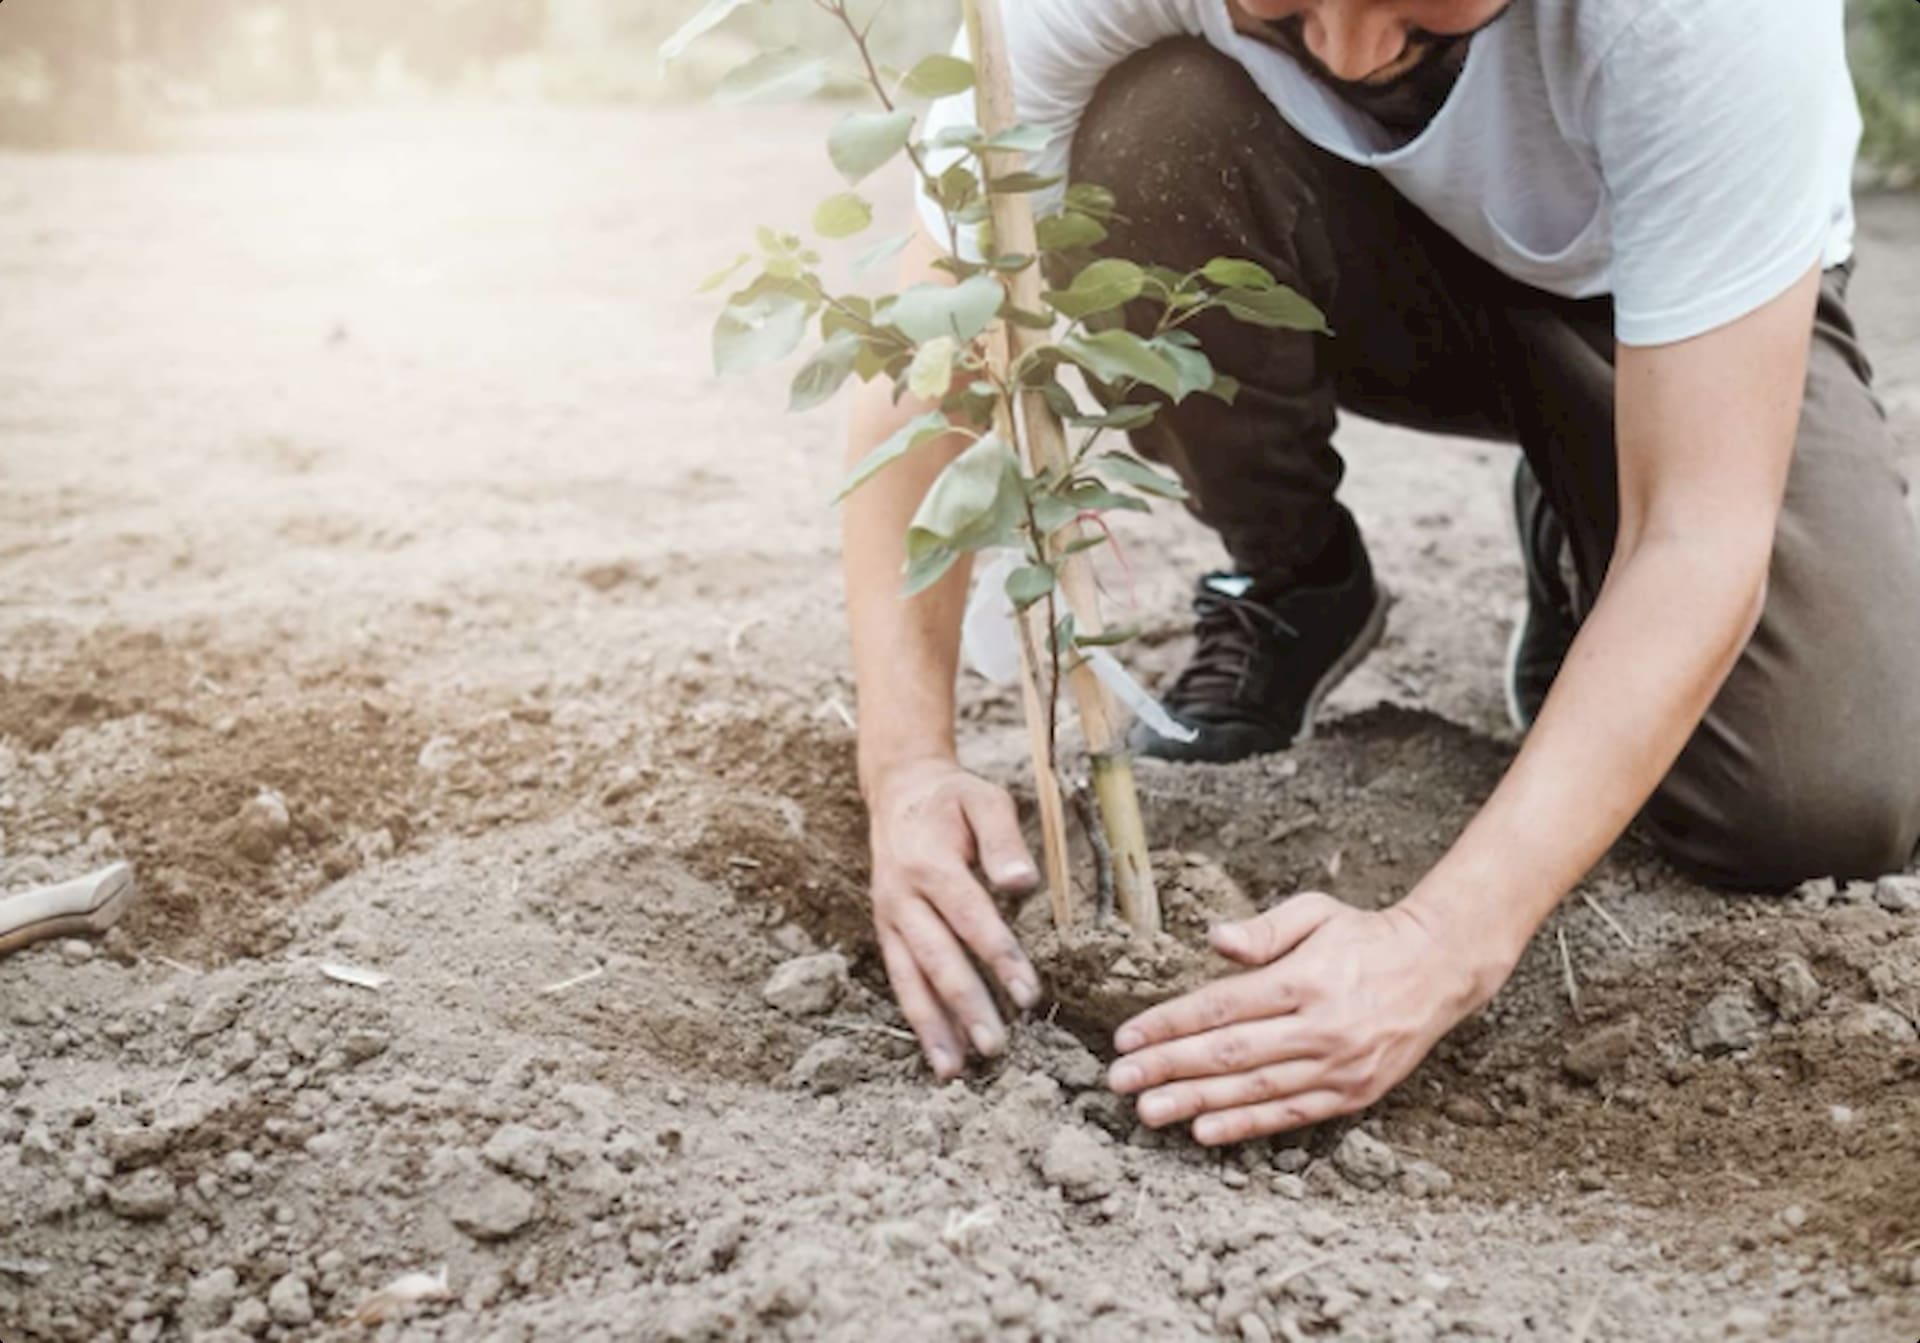
[[[697,0],[6,0],[0,142],[138,144],[213,108],[695,96],[755,44],[824,44],[799,0],[756,4],[662,73]],[[893,0],[881,37],[925,50],[956,0]],[[1872,171],[1920,173],[1920,4],[1849,0]]]

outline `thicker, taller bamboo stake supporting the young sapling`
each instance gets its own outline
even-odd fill
[[[1000,2],[962,2],[973,48],[973,100],[979,125],[987,134],[996,134],[1016,121],[1014,71],[1006,54]],[[1018,171],[1021,158],[1020,154],[995,154],[987,167],[995,177],[1000,177]],[[993,196],[993,236],[995,250],[1002,256],[1039,256],[1033,202],[1027,196]],[[1006,277],[1006,284],[1016,305],[1027,311],[1044,311],[1043,277],[1037,263]],[[1010,361],[1018,359],[1041,338],[1043,332],[1014,327],[1000,354]],[[1002,367],[1010,367],[1010,363]],[[1071,455],[1068,453],[1066,428],[1046,400],[1039,392],[1023,394],[1020,417],[1025,427],[1029,469],[1068,471]],[[1046,548],[1048,557],[1054,559],[1060,592],[1073,613],[1075,628],[1081,634],[1096,636],[1102,630],[1102,621],[1092,565],[1085,555],[1060,555],[1060,549],[1077,540],[1079,534],[1081,526],[1075,523],[1058,532],[1056,540],[1046,542]],[[1133,784],[1133,755],[1119,730],[1119,715],[1106,686],[1100,684],[1085,659],[1073,659],[1068,669],[1068,686],[1079,709],[1081,732],[1087,736],[1094,797],[1100,803],[1100,818],[1114,849],[1114,888],[1119,913],[1135,932],[1158,932],[1160,893],[1154,890],[1154,868],[1146,857],[1146,826],[1140,818],[1140,797]]]

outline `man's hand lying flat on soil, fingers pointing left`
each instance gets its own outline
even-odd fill
[[[1212,930],[1250,968],[1119,1028],[1108,1086],[1152,1128],[1210,1147],[1350,1114],[1400,1084],[1511,970],[1444,945],[1404,907],[1331,895]]]

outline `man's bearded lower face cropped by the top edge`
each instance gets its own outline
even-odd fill
[[[1227,0],[1235,25],[1332,85],[1380,88],[1484,29],[1511,0]]]

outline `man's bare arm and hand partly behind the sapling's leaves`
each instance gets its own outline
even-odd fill
[[[900,259],[900,288],[952,282],[933,269],[925,236]],[[893,400],[876,378],[854,396],[849,461],[860,461],[916,415],[933,409]],[[906,526],[927,488],[966,446],[943,438],[918,448],[860,486],[845,505],[847,621],[860,703],[860,792],[874,851],[874,928],[900,1011],[939,1078],[970,1049],[1006,1045],[993,995],[968,951],[1020,1007],[1039,1001],[1039,976],[975,878],[1031,890],[1037,868],[1004,790],[960,769],[954,755],[954,669],[966,607],[966,559],[937,584],[900,599]]]

